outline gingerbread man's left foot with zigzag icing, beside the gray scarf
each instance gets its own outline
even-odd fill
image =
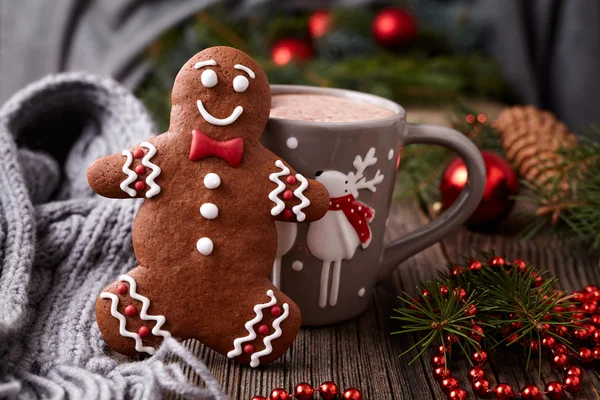
[[[108,285],[96,300],[96,321],[104,340],[118,353],[152,355],[171,337],[166,317],[144,296],[148,270],[137,267]],[[162,310],[164,312],[164,310]]]

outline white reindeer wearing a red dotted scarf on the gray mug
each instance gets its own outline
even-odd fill
[[[358,246],[366,249],[371,243],[369,224],[375,218],[375,210],[357,201],[359,190],[375,192],[377,184],[383,181],[383,175],[377,170],[375,177],[367,180],[365,170],[375,165],[375,148],[371,147],[364,160],[356,156],[353,165],[356,172],[344,174],[340,171],[318,171],[316,181],[329,191],[331,197],[329,210],[319,221],[312,222],[308,228],[308,248],[312,254],[323,260],[319,306],[327,306],[329,271],[333,263],[333,277],[329,305],[337,304],[340,288],[342,260],[350,260]]]

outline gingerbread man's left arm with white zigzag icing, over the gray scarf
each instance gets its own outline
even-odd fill
[[[88,183],[94,192],[111,198],[152,198],[161,191],[157,178],[156,138],[96,160],[87,170]]]

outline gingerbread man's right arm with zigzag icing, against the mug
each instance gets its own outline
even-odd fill
[[[329,208],[327,189],[297,173],[279,158],[272,162],[267,199],[273,218],[285,222],[312,222],[322,218]]]

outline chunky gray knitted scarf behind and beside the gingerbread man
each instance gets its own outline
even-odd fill
[[[135,266],[140,203],[96,196],[86,168],[155,133],[128,91],[84,73],[45,78],[0,108],[0,398],[226,399],[175,340],[132,361],[96,324],[100,291]],[[188,383],[185,363],[205,387]]]

